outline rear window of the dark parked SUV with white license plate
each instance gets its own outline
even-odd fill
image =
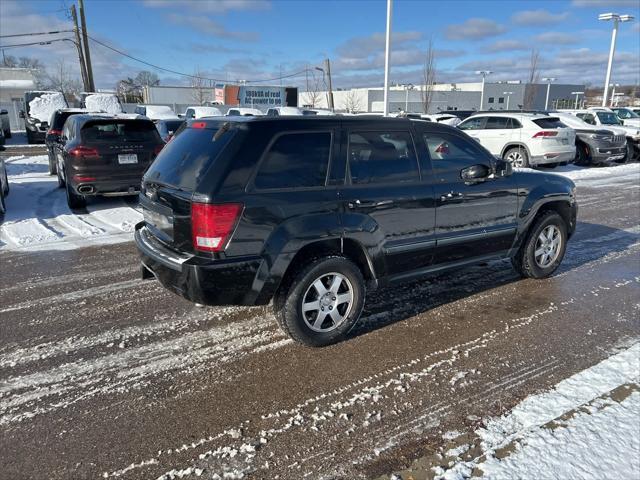
[[[153,142],[159,141],[158,132],[153,123],[146,120],[97,120],[89,121],[81,130],[83,141],[101,142]]]

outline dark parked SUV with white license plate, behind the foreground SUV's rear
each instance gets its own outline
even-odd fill
[[[151,120],[72,115],[56,144],[58,186],[70,208],[83,207],[88,196],[135,195],[163,146]]]

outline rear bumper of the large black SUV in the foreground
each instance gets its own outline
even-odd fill
[[[152,274],[165,288],[204,305],[258,305],[260,257],[213,260],[178,253],[136,225],[143,278]]]

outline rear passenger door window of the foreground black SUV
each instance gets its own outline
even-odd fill
[[[409,132],[351,132],[348,159],[354,185],[420,179]]]

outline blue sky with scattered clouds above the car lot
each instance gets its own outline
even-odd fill
[[[72,0],[2,0],[0,32],[69,28]],[[335,87],[380,85],[386,2],[384,0],[85,0],[88,28],[100,41],[150,63],[180,72],[235,81],[259,80],[321,65],[331,59]],[[396,0],[391,78],[420,83],[429,39],[436,50],[438,81],[473,81],[475,70],[494,80],[524,80],[531,48],[540,52],[541,76],[566,83],[602,84],[611,24],[598,13],[640,17],[640,0]],[[637,83],[639,22],[621,26],[613,80]],[[59,37],[54,36],[54,37]],[[0,39],[0,44],[23,38]],[[7,49],[36,56],[48,66],[63,60],[77,71],[68,42]],[[150,69],[92,44],[97,84]],[[163,84],[189,79],[156,71]],[[304,83],[305,76],[283,80]],[[278,84],[279,81],[268,82]]]

